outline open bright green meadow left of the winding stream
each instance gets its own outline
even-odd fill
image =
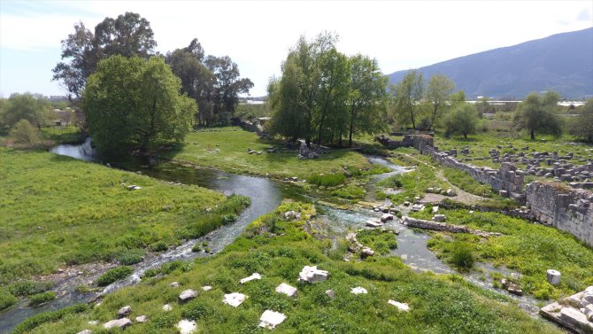
[[[0,161],[0,285],[99,260],[135,263],[249,203],[48,152],[0,147]]]

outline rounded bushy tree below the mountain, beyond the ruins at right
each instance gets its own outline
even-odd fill
[[[549,91],[539,96],[531,93],[520,103],[513,117],[513,126],[519,130],[527,129],[529,136],[535,140],[535,131],[558,136],[562,133],[560,120],[556,115],[560,96]]]

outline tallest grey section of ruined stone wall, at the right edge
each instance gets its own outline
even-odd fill
[[[529,183],[526,198],[538,221],[572,234],[593,247],[593,194],[560,183]]]

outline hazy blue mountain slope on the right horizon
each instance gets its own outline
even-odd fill
[[[425,80],[448,76],[467,98],[512,97],[555,90],[564,98],[593,96],[593,27],[474,53],[418,69]],[[401,82],[408,71],[389,74]]]

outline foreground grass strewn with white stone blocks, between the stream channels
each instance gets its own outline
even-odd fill
[[[300,211],[300,221],[284,221],[284,212]],[[559,333],[548,322],[535,320],[509,299],[466,284],[459,276],[415,274],[397,257],[366,261],[331,260],[327,240],[316,240],[306,231],[314,213],[310,205],[285,203],[275,213],[254,221],[232,245],[213,256],[191,263],[167,266],[166,274],[144,278],[141,284],[104,297],[100,307],[71,307],[56,314],[39,315],[22,323],[15,332],[74,333],[89,329],[101,332],[101,324],[130,305],[134,318],[147,315],[127,333],[175,333],[181,319],[196,321],[200,332],[266,333],[258,328],[259,316],[272,309],[287,316],[275,333]],[[275,237],[269,230],[274,229]],[[305,265],[327,270],[329,278],[315,284],[299,284]],[[254,272],[261,280],[240,284]],[[181,286],[171,287],[172,282]],[[276,293],[281,283],[297,287],[297,297]],[[211,291],[201,287],[212,285]],[[368,293],[355,295],[361,286]],[[199,291],[196,299],[179,304],[181,291]],[[335,291],[335,298],[327,290]],[[222,303],[223,295],[241,292],[248,296],[239,307]],[[407,303],[410,312],[398,311],[389,299]],[[170,304],[169,312],[162,310]],[[97,320],[99,325],[89,325]]]

